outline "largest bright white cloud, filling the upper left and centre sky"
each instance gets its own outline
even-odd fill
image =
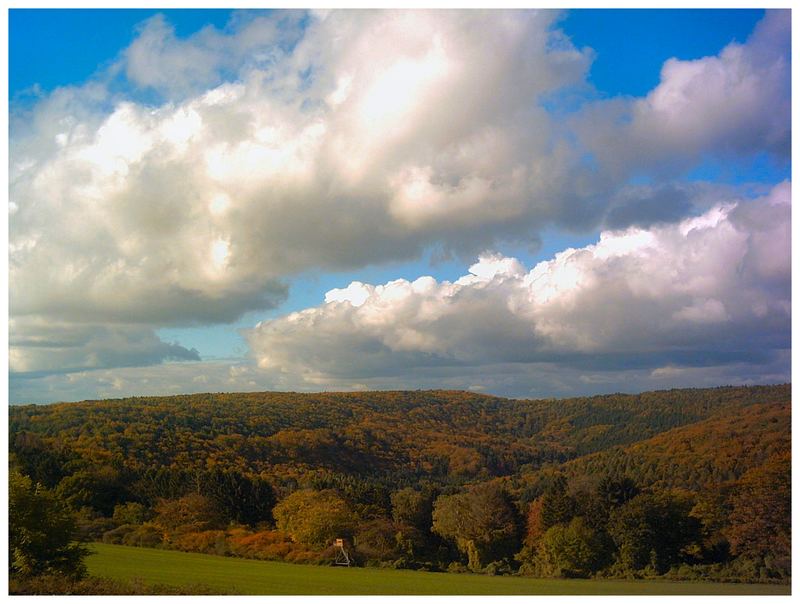
[[[230,321],[274,306],[280,279],[306,268],[562,212],[569,154],[536,100],[580,81],[588,59],[553,18],[342,11],[285,47],[279,32],[295,30],[275,19],[183,41],[147,22],[124,53],[136,84],[202,87],[228,63],[235,78],[156,107],[59,91],[17,124],[13,312]]]

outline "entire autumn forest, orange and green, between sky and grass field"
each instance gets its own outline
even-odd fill
[[[359,563],[406,568],[791,574],[788,384],[197,394],[9,414],[12,495],[61,502],[86,539],[319,563],[345,537]]]

